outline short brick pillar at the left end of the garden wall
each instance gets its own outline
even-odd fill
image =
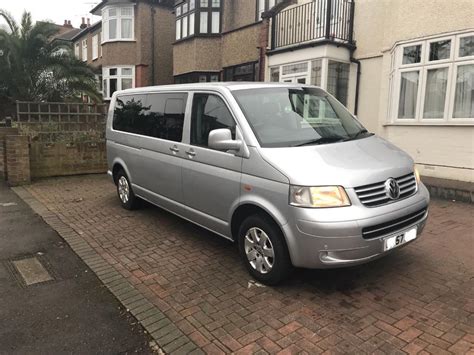
[[[6,166],[11,186],[30,183],[30,152],[28,136],[6,136]]]

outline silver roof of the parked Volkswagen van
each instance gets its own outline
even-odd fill
[[[245,90],[245,89],[263,89],[263,88],[272,88],[272,87],[302,87],[302,86],[308,86],[308,85],[292,84],[292,83],[229,81],[229,82],[213,82],[213,83],[192,83],[192,84],[146,86],[146,87],[119,91],[119,93],[127,94],[127,93],[140,93],[140,92],[159,91],[159,90],[199,90],[199,89],[220,90],[222,88],[227,88],[230,91],[236,91],[236,90]]]

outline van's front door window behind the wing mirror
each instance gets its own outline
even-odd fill
[[[235,121],[225,102],[217,95],[194,94],[191,144],[207,147],[209,132],[219,128],[229,128],[235,139]]]

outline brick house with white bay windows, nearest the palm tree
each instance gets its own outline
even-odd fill
[[[102,20],[73,39],[75,55],[97,70],[104,99],[117,90],[173,82],[173,0],[103,0]]]

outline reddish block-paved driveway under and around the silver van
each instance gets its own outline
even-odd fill
[[[432,201],[411,245],[271,288],[251,282],[230,242],[156,207],[123,210],[105,176],[28,191],[206,353],[474,354],[472,205]]]

